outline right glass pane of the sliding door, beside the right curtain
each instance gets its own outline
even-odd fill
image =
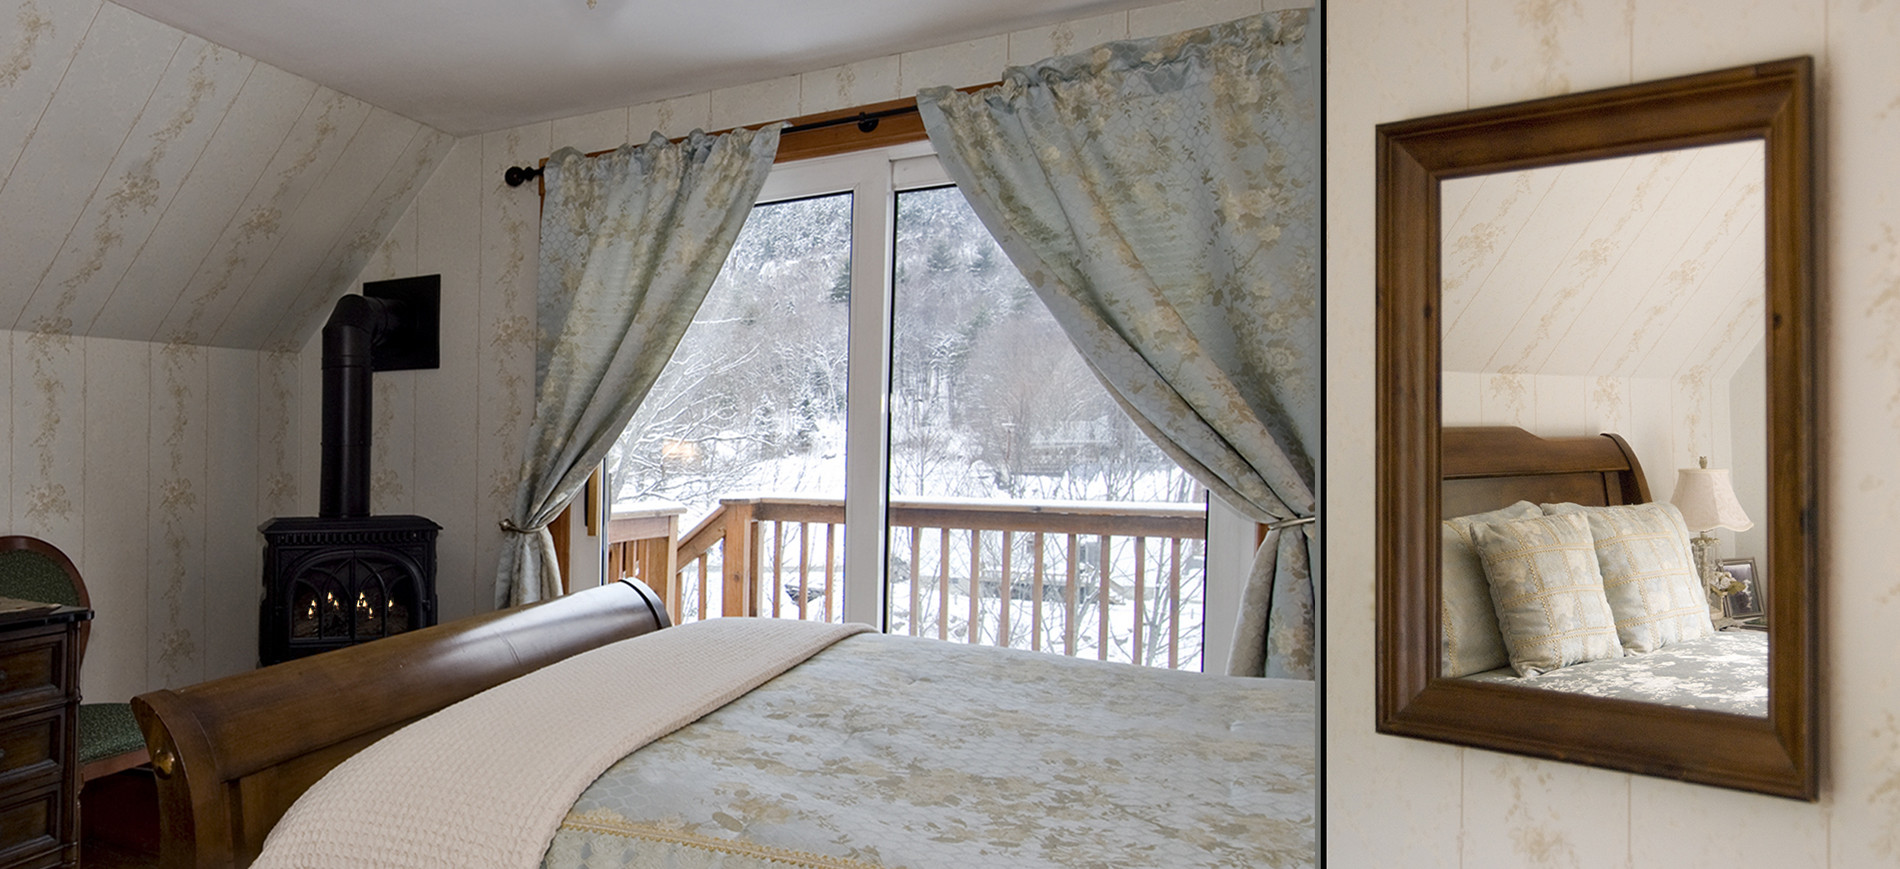
[[[887,629],[1197,669],[1205,491],[956,186],[897,194]]]

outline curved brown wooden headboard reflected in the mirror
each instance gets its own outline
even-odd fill
[[[1438,464],[1444,519],[1520,500],[1598,508],[1649,502],[1644,468],[1615,434],[1537,437],[1512,426],[1444,428]]]

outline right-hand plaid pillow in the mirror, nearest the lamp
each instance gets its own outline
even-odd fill
[[[1577,513],[1590,523],[1604,597],[1617,616],[1617,637],[1626,652],[1655,652],[1716,633],[1708,620],[1708,595],[1695,574],[1689,527],[1674,504],[1545,504],[1545,513]]]

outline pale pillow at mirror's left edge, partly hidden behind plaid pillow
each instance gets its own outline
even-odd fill
[[[1537,504],[1520,500],[1490,513],[1446,519],[1438,534],[1438,673],[1457,679],[1510,664],[1505,635],[1497,631],[1492,586],[1484,582],[1484,563],[1471,548],[1471,527],[1543,515]]]

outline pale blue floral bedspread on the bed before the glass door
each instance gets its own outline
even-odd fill
[[[849,637],[625,757],[543,865],[1313,865],[1313,683]]]

